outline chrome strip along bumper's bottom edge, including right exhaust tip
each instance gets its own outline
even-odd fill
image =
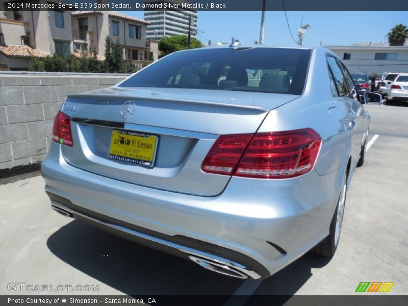
[[[86,218],[86,219],[89,219],[91,221],[97,222],[99,224],[114,228],[115,230],[118,230],[118,231],[121,231],[121,232],[124,232],[124,233],[127,233],[127,234],[131,234],[131,235],[137,236],[139,238],[147,239],[147,240],[150,240],[152,242],[156,242],[156,243],[165,245],[167,247],[171,247],[171,248],[177,249],[179,251],[185,252],[185,253],[189,254],[189,257],[190,257],[191,260],[193,260],[193,258],[194,258],[193,261],[195,261],[197,264],[199,264],[199,265],[201,265],[201,266],[203,266],[203,267],[205,267],[207,269],[210,269],[212,271],[222,273],[222,274],[226,274],[226,272],[229,269],[229,271],[231,271],[231,274],[226,274],[226,275],[239,277],[239,278],[247,278],[247,277],[243,277],[244,275],[250,276],[253,279],[261,278],[261,275],[259,275],[258,273],[248,269],[247,267],[245,267],[245,266],[243,266],[243,265],[241,265],[239,263],[236,263],[236,262],[233,262],[231,260],[221,258],[221,257],[213,255],[213,254],[209,254],[209,253],[205,253],[205,252],[202,252],[202,251],[199,251],[199,250],[196,250],[196,249],[192,249],[192,248],[180,245],[180,244],[176,244],[176,243],[169,242],[169,241],[166,241],[166,240],[163,240],[163,239],[160,239],[160,238],[156,238],[156,237],[153,237],[153,236],[150,236],[150,235],[139,233],[139,232],[131,230],[130,228],[126,228],[126,227],[123,227],[123,226],[120,226],[120,225],[116,225],[116,224],[112,224],[112,223],[108,223],[108,222],[105,222],[105,221],[95,219],[95,218],[90,217],[88,215],[82,214],[82,213],[80,213],[78,211],[74,211],[74,210],[72,210],[70,208],[67,208],[64,205],[62,205],[61,203],[52,201],[51,208],[54,209],[57,212],[64,211],[66,214],[71,214],[71,216],[73,214],[76,214],[76,215],[79,215],[79,216],[81,216],[83,218]],[[212,267],[211,268],[206,267],[205,265],[203,265],[201,263],[198,263],[196,260],[201,260],[201,263],[203,263],[203,260],[204,260],[208,265],[211,264]],[[225,267],[228,267],[228,268],[226,269]],[[223,272],[220,272],[219,270],[222,270]],[[235,275],[233,275],[234,273],[235,273]]]

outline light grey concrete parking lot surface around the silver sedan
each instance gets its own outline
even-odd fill
[[[56,214],[36,172],[0,180],[0,294],[47,294],[8,290],[26,283],[99,286],[49,294],[350,295],[360,282],[394,282],[388,294],[406,294],[408,103],[366,109],[371,143],[333,258],[307,253],[263,281],[216,274]]]

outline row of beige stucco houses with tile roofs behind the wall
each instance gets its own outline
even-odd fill
[[[50,0],[53,1],[53,0]],[[39,0],[47,3],[49,0]],[[0,0],[6,7],[7,1]],[[104,59],[105,38],[119,41],[123,59],[135,65],[159,57],[158,41],[146,41],[149,22],[106,11],[2,11],[0,12],[0,70],[25,70],[31,55],[78,55],[85,47]]]

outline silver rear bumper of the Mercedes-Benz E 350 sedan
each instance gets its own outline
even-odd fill
[[[42,163],[46,192],[74,217],[177,256],[215,258],[252,278],[277,272],[328,235],[344,171],[274,182],[233,177],[220,195],[202,197],[75,168],[54,142]]]

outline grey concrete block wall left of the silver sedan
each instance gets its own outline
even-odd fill
[[[0,72],[0,171],[45,158],[54,116],[67,94],[106,88],[125,78],[123,74]]]

